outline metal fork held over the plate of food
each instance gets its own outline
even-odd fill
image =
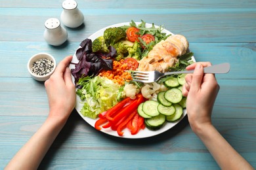
[[[218,65],[212,65],[212,66],[203,68],[204,73],[213,73],[213,74],[228,73],[229,70],[230,70],[229,63],[221,63]],[[194,73],[194,70],[173,71],[173,72],[167,72],[167,73],[160,73],[159,71],[131,71],[131,77],[133,78],[133,81],[136,81],[136,82],[150,83],[150,82],[156,82],[162,76],[187,74],[187,73]]]

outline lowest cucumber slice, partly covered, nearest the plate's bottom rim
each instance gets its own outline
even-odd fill
[[[148,129],[157,130],[160,129],[163,124],[165,124],[165,115],[158,114],[158,116],[154,116],[152,118],[145,119],[145,125]]]

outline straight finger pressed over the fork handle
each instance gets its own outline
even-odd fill
[[[195,91],[200,90],[202,79],[203,79],[203,65],[201,63],[198,63],[196,64],[195,71],[192,76],[190,90],[195,90]]]

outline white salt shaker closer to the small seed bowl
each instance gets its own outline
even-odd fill
[[[43,33],[45,41],[53,46],[59,46],[68,39],[68,32],[60,25],[57,18],[49,18],[45,22],[45,32]]]

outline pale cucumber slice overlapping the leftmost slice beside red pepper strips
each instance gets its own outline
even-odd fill
[[[142,110],[148,116],[158,116],[160,114],[158,112],[158,105],[159,103],[157,101],[148,100],[143,103]]]

